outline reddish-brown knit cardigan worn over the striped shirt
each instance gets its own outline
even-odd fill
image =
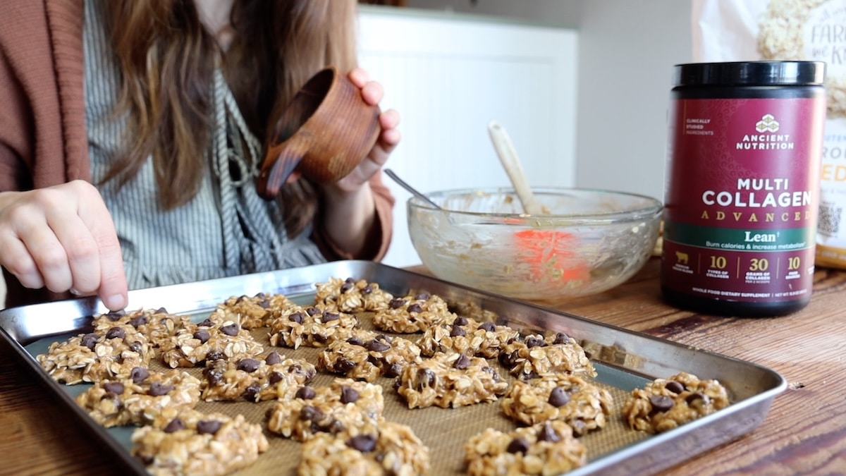
[[[0,3],[0,191],[91,180],[85,131],[83,0]],[[371,180],[379,226],[368,250],[350,256],[314,240],[329,259],[381,259],[391,241],[394,198],[380,174]],[[6,306],[68,297],[27,290],[3,270]]]

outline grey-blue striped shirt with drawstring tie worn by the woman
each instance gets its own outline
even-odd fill
[[[112,167],[125,120],[115,118],[119,75],[102,27],[97,0],[85,0],[85,125],[91,180],[112,213],[129,289],[207,280],[322,263],[310,228],[288,239],[277,202],[255,191],[261,146],[244,125],[232,93],[217,71],[212,91],[215,129],[206,151],[198,194],[162,211],[152,161],[118,190],[101,183]],[[245,144],[245,146],[242,146]],[[233,179],[230,169],[238,169]]]

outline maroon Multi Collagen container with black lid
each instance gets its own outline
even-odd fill
[[[813,285],[825,64],[677,64],[661,287],[700,313],[777,316]]]

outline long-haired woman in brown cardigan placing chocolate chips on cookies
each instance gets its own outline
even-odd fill
[[[398,114],[336,184],[255,191],[267,130],[322,67],[355,68],[354,0],[16,0],[0,7],[0,265],[7,306],[379,259]]]

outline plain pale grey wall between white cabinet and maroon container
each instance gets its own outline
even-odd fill
[[[408,0],[408,5],[576,29],[576,185],[663,198],[673,64],[692,58],[689,1]]]

